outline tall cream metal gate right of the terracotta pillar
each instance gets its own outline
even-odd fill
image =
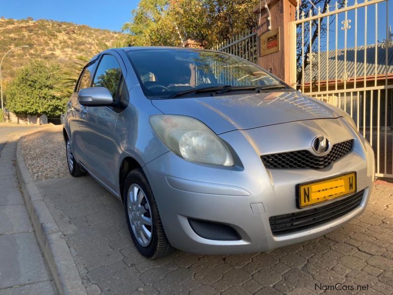
[[[294,84],[351,115],[374,149],[376,176],[393,177],[393,1],[351,2],[309,11],[298,2]]]

